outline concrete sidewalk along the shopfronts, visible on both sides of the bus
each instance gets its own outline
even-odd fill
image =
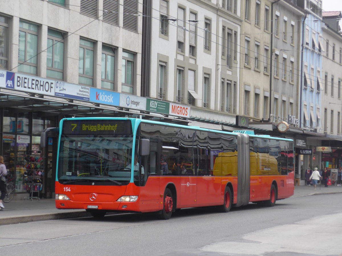
[[[326,188],[318,185],[317,190],[313,186],[295,186],[292,197],[339,193],[342,193],[342,186],[332,185]],[[0,211],[0,225],[91,216],[85,210],[58,210],[54,199],[11,201],[4,203],[4,207]]]

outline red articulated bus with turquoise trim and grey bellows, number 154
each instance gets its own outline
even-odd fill
[[[140,118],[64,118],[58,129],[58,209],[158,212],[293,195],[293,141]]]

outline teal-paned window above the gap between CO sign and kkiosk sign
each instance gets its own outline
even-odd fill
[[[78,82],[80,84],[93,85],[94,46],[94,42],[80,39],[80,53],[78,62]]]

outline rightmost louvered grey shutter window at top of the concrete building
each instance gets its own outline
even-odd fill
[[[132,31],[137,30],[138,24],[138,2],[137,0],[123,1],[123,20],[122,27]]]

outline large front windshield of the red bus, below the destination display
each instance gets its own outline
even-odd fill
[[[57,177],[61,183],[123,185],[130,182],[132,135],[62,135]],[[104,184],[106,183],[106,184]]]

